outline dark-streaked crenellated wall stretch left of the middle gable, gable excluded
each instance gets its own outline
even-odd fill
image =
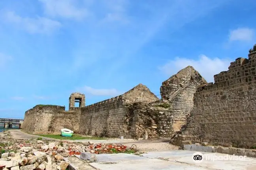
[[[81,111],[79,132],[87,135],[119,137],[125,115],[122,96],[88,105]]]

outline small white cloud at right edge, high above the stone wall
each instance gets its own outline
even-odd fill
[[[230,41],[252,41],[254,39],[254,29],[251,28],[237,28],[230,31]]]

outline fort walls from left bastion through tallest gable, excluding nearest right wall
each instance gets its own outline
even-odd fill
[[[72,93],[69,111],[61,106],[38,105],[26,111],[23,129],[60,133],[60,129],[68,128],[80,134],[134,139],[172,137],[190,116],[193,96],[201,83],[206,81],[189,66],[163,82],[161,100],[142,84],[85,107],[85,96]],[[81,107],[75,107],[75,102]]]

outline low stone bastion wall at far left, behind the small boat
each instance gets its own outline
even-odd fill
[[[36,105],[26,111],[23,129],[34,134],[60,133],[62,128],[78,131],[80,120],[79,109],[65,111],[65,107],[58,105]]]

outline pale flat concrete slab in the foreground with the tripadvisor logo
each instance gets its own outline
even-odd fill
[[[194,151],[171,150],[163,152],[149,152],[142,156],[119,153],[100,154],[98,160],[90,163],[91,166],[101,170],[255,170],[256,158],[245,157],[243,161],[210,161],[201,163],[193,161]],[[225,156],[222,153],[206,153]],[[230,155],[232,156],[232,155]]]

